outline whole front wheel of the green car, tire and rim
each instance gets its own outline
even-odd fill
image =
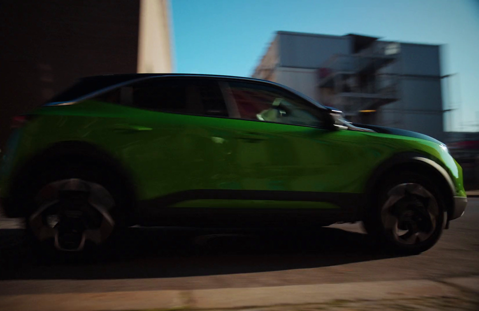
[[[432,180],[413,172],[386,178],[371,200],[365,230],[395,252],[417,254],[433,247],[445,227],[444,198]]]

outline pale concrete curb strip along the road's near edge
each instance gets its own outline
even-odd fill
[[[437,281],[420,279],[212,290],[11,295],[0,296],[0,310],[237,309],[327,303],[334,300],[460,297],[464,291],[479,293],[479,276]]]

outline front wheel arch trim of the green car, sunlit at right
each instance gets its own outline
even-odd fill
[[[362,218],[367,216],[368,206],[375,205],[376,191],[380,188],[381,182],[397,172],[421,173],[431,179],[444,195],[448,219],[450,218],[454,212],[453,197],[455,196],[455,186],[451,177],[441,165],[416,152],[397,154],[377,167],[366,183],[366,202]]]

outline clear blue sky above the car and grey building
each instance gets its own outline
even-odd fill
[[[442,74],[459,74],[453,129],[479,130],[479,0],[171,0],[171,10],[178,73],[250,76],[280,30],[444,44]]]

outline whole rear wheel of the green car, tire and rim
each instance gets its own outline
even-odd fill
[[[91,249],[125,227],[125,194],[112,172],[84,163],[60,164],[35,175],[26,187],[25,224],[36,247]]]

